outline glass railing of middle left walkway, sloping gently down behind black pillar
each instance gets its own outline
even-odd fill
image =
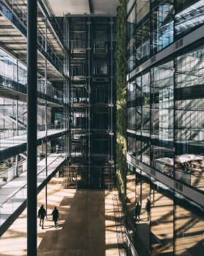
[[[12,79],[9,79],[7,77],[0,76],[0,86],[10,89],[10,90],[17,90],[21,93],[26,93],[26,90],[23,90],[23,88],[19,88],[19,83],[13,81]],[[20,85],[27,85],[26,80],[21,80]],[[63,104],[63,101],[65,99],[65,95],[59,90],[56,90],[54,87],[52,87],[49,84],[45,84],[45,81],[43,80],[37,80],[37,91],[40,91],[41,93],[45,93],[48,96],[51,96],[52,99],[57,99],[59,101],[59,104]],[[55,100],[56,101],[56,100]]]

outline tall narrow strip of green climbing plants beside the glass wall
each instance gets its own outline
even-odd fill
[[[119,0],[117,7],[117,188],[126,214],[126,0]]]

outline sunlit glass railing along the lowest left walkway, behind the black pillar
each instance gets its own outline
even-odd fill
[[[54,158],[54,161],[52,161],[48,165],[48,168],[47,168],[48,176],[53,171],[56,170],[56,168],[60,165],[60,163],[62,163],[64,159],[65,159],[65,154],[59,154],[59,157]],[[46,168],[43,168],[43,170],[37,174],[37,186],[39,186],[45,179],[46,179]],[[15,191],[15,193],[13,193],[12,195],[4,194],[4,198],[7,198],[7,199],[4,202],[1,202],[1,205],[0,205],[0,226],[27,199],[27,184],[24,184],[23,186],[21,186],[21,188],[18,188],[18,191]]]

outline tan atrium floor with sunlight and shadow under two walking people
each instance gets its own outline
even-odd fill
[[[113,191],[63,189],[63,179],[48,184],[48,218],[44,230],[37,226],[37,255],[119,256],[115,229]],[[45,205],[45,189],[37,197]],[[57,206],[57,229],[51,212]],[[37,220],[39,224],[39,220]],[[27,255],[26,210],[0,239],[0,255]]]

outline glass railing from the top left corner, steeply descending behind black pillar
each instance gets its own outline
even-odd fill
[[[4,13],[4,15],[9,18],[10,21],[12,21],[12,15],[15,15],[15,17],[21,21],[23,26],[27,27],[27,6],[22,5],[18,0],[12,0],[12,2],[6,0],[5,1],[7,6],[10,7],[10,10],[7,9],[7,7],[4,6],[4,4],[0,2],[1,11]],[[37,41],[40,43],[40,46],[43,47],[45,50],[45,37],[40,33],[39,30],[37,30]],[[59,71],[63,74],[67,74],[67,67],[62,63],[62,60],[59,60],[59,57],[57,56],[56,52],[47,42],[47,53],[51,57],[51,59],[56,63],[56,65],[59,67]]]

